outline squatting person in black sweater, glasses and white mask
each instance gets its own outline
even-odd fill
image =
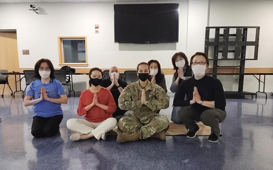
[[[200,130],[194,121],[202,121],[211,127],[209,142],[217,142],[220,135],[219,123],[226,118],[226,98],[223,86],[217,78],[205,75],[208,68],[206,54],[196,52],[190,58],[194,76],[179,85],[173,106],[182,106],[178,115],[189,129],[188,138],[194,138]],[[187,100],[184,99],[185,94]]]

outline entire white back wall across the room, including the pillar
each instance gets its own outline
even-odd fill
[[[30,3],[0,3],[0,29],[17,30],[20,68],[32,68],[42,57],[55,57],[52,63],[59,68],[58,36],[87,36],[89,65],[85,68],[112,65],[135,68],[137,63],[150,59],[160,61],[162,68],[171,68],[170,58],[175,52],[183,51],[190,58],[196,51],[204,50],[206,26],[261,26],[258,61],[246,61],[246,67],[272,67],[273,1],[167,2],[180,4],[179,43],[115,44],[113,2],[35,3],[40,7],[39,15],[27,10]],[[95,24],[100,25],[99,34],[94,33]],[[29,49],[30,55],[22,55],[22,49]],[[237,90],[236,76],[219,78],[225,90]],[[73,79],[76,91],[87,88],[87,76],[74,76]],[[167,87],[171,80],[172,75],[166,75]],[[271,92],[272,76],[266,81],[265,91]],[[244,90],[256,92],[257,81],[253,76],[246,76]]]

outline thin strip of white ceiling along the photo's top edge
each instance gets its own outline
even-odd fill
[[[174,0],[0,0],[0,3],[21,2],[145,2],[145,1],[174,1]],[[183,0],[176,0],[183,1]]]

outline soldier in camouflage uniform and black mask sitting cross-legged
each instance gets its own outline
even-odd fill
[[[157,111],[169,107],[170,97],[164,89],[146,79],[149,76],[147,63],[140,63],[137,69],[140,80],[125,87],[119,96],[119,107],[133,110],[133,113],[119,120],[117,142],[149,137],[166,140],[169,120],[166,116],[157,114]],[[141,86],[143,84],[146,86]]]

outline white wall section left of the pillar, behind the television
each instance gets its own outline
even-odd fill
[[[176,1],[178,2],[178,1]],[[19,67],[31,68],[35,62],[55,57],[58,66],[58,36],[87,36],[88,68],[135,68],[137,63],[159,60],[162,68],[170,68],[170,57],[186,50],[187,1],[179,1],[179,42],[159,44],[114,43],[114,3],[35,3],[45,15],[27,10],[29,3],[1,4],[0,29],[17,29]],[[10,10],[12,9],[12,10]],[[95,34],[95,24],[100,33]],[[30,55],[22,55],[29,49]]]

